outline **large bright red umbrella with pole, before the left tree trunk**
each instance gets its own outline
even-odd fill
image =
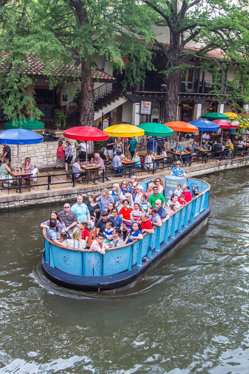
[[[65,130],[63,132],[65,138],[74,140],[107,140],[109,135],[106,132],[97,129],[96,127],[90,126],[77,126],[71,129]],[[87,145],[86,145],[87,148]],[[86,159],[87,159],[87,149],[86,149]]]

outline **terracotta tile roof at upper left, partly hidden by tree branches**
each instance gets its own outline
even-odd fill
[[[3,67],[3,61],[4,59],[7,58],[7,54],[2,55],[1,61],[0,61],[0,71],[2,70],[1,68]],[[26,55],[27,60],[23,61],[25,68],[24,72],[28,75],[32,76],[47,76],[46,73],[44,73],[46,66],[41,62],[41,60],[35,56],[32,55]],[[73,62],[69,62],[65,66],[61,65],[58,66],[55,64],[55,62],[51,61],[52,64],[52,71],[57,74],[59,77],[80,77],[81,75],[81,70],[79,67],[77,67]],[[12,70],[12,69],[11,69]],[[65,73],[66,71],[66,73]],[[92,79],[93,80],[99,80],[101,81],[113,81],[115,82],[116,79],[111,76],[108,73],[105,73],[105,71],[99,70],[99,69],[94,69],[92,68]]]

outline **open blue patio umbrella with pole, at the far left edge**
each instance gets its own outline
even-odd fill
[[[18,167],[19,167],[19,145],[37,144],[43,142],[43,136],[34,131],[25,129],[9,129],[0,132],[1,144],[17,144]]]

